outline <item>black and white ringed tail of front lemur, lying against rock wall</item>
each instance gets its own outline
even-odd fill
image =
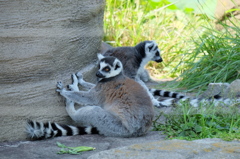
[[[47,139],[57,136],[99,134],[98,130],[91,126],[76,127],[51,122],[43,123],[32,120],[27,121],[26,132],[27,136],[32,139]]]

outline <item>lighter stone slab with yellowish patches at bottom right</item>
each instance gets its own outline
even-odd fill
[[[134,144],[127,147],[102,151],[88,159],[206,159],[240,158],[240,142],[224,142],[219,139],[196,141],[157,140],[155,142]]]

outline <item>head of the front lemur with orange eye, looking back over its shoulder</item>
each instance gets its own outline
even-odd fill
[[[117,58],[112,56],[104,57],[103,55],[98,54],[98,59],[99,69],[96,76],[100,79],[115,77],[122,72],[122,63]]]

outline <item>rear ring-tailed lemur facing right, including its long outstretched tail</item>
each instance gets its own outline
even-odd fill
[[[156,42],[154,41],[140,42],[135,47],[112,48],[107,50],[105,53],[103,53],[103,55],[117,57],[123,64],[124,74],[132,79],[135,79],[146,90],[148,90],[146,84],[140,79],[140,76],[144,78],[144,74],[145,74],[144,66],[149,61],[162,62],[162,58],[160,56],[160,50]],[[88,83],[84,81],[81,73],[77,73],[77,76],[78,76],[78,80],[79,80],[78,82],[80,85],[88,89],[95,86],[92,83]],[[195,106],[195,107],[203,102],[214,102],[215,104],[218,104],[218,103],[231,104],[233,102],[233,100],[231,99],[224,99],[218,95],[210,97],[209,99],[199,99],[199,98],[190,98],[181,93],[151,89],[151,88],[149,89],[148,94],[153,104],[157,107],[171,106],[175,103],[179,103],[179,99],[181,101],[187,100],[192,106]],[[177,98],[177,99],[165,99],[162,101],[158,101],[157,99],[154,98],[154,96],[171,97],[171,98]]]

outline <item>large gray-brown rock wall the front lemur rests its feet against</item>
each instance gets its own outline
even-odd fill
[[[28,118],[71,123],[56,82],[92,70],[104,6],[104,0],[1,1],[0,141],[25,139]]]

